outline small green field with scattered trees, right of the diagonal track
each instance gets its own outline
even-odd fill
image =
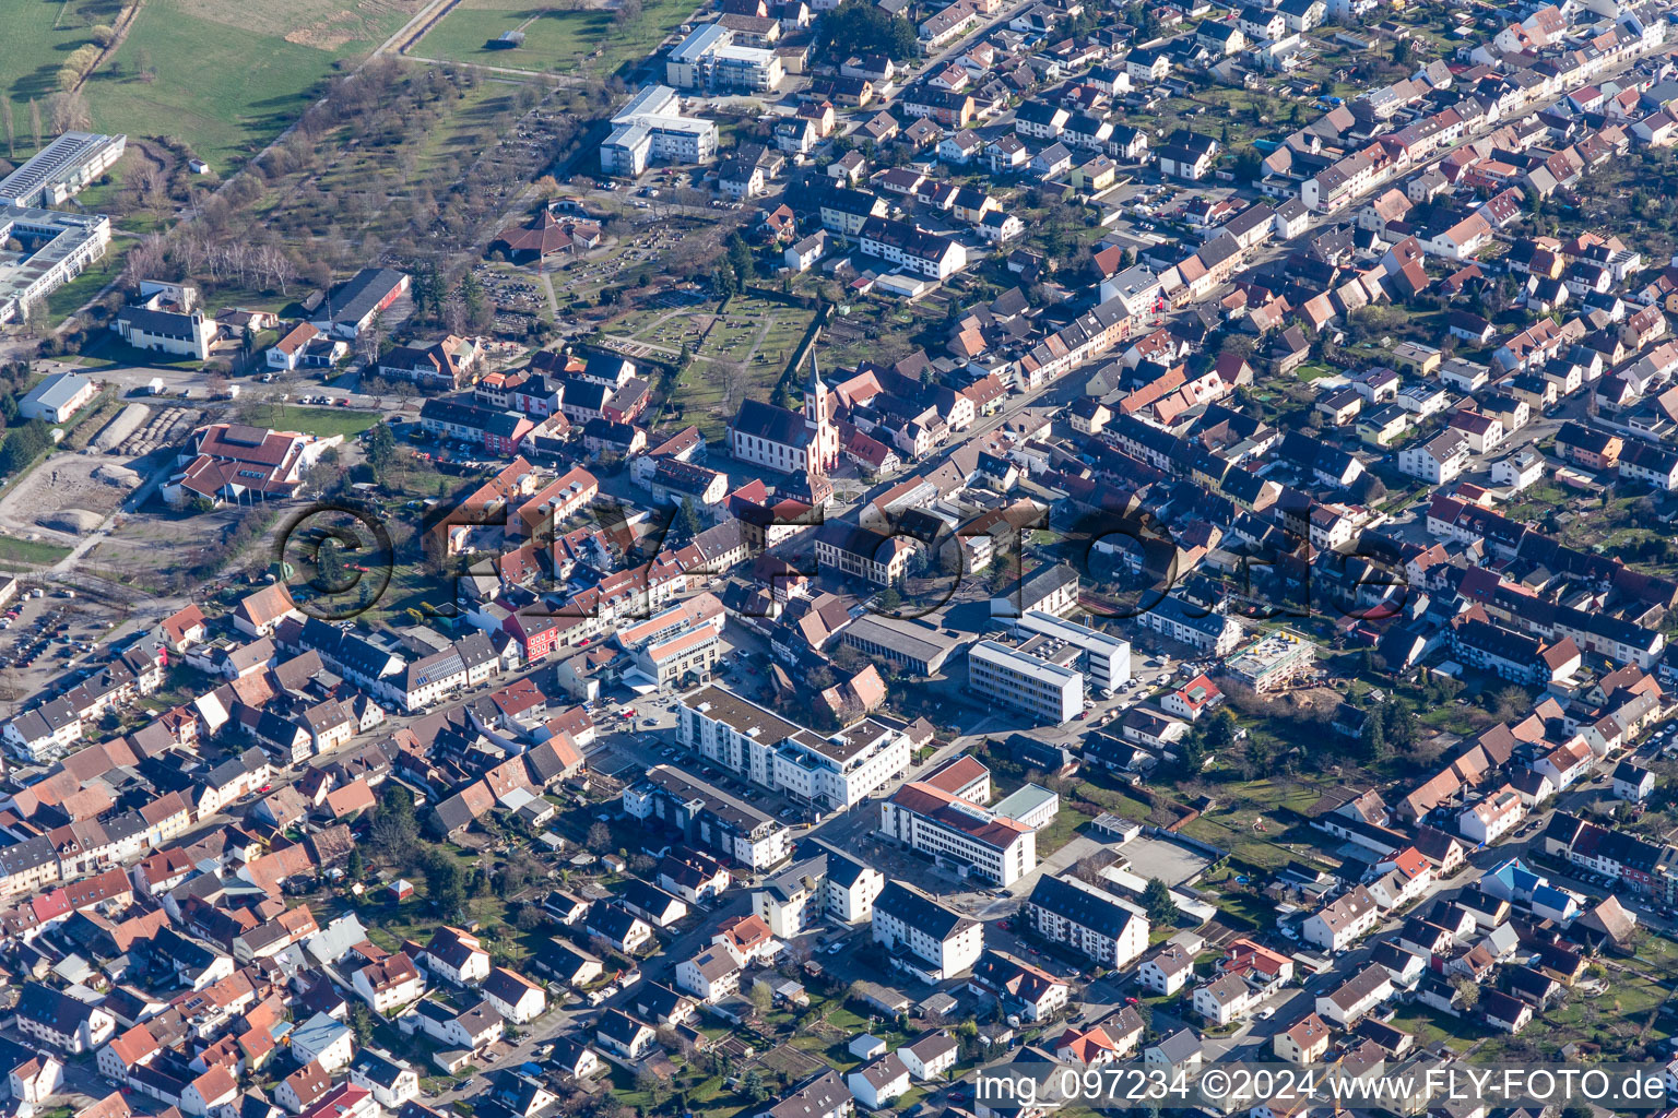
[[[628,60],[653,54],[680,27],[695,0],[646,0],[629,27],[612,27],[607,10],[560,10],[532,0],[463,0],[425,34],[413,54],[450,62],[503,65],[517,70],[587,70],[607,75]],[[503,32],[522,30],[524,45],[492,50]]]

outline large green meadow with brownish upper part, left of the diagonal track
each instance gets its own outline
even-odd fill
[[[5,7],[40,18],[57,5]],[[416,8],[416,0],[146,0],[116,57],[87,82],[94,127],[175,136],[225,176],[309,106],[334,64],[366,57]]]

